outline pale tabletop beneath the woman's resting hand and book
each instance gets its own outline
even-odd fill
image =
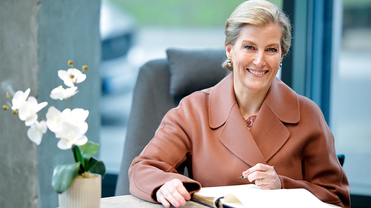
[[[100,208],[164,208],[161,204],[154,204],[148,201],[144,201],[133,195],[124,195],[117,197],[106,197],[101,198]],[[187,201],[184,207],[189,208],[207,208],[202,204],[198,204],[193,201]]]

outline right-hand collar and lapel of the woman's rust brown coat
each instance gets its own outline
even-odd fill
[[[284,123],[295,124],[299,120],[298,95],[281,80],[275,78],[250,129],[266,162],[290,137],[290,132]]]

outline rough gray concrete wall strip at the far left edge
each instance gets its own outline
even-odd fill
[[[5,93],[32,88],[37,96],[36,0],[0,1],[0,104]],[[0,207],[37,206],[37,152],[17,115],[0,111]]]

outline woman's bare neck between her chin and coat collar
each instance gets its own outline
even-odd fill
[[[240,88],[234,85],[236,101],[244,119],[259,113],[268,89],[269,88],[263,90],[252,90],[247,87]]]

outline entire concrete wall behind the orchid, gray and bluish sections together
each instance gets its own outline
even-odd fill
[[[87,78],[78,84],[73,108],[89,110],[86,136],[99,141],[100,0],[0,0],[0,104],[10,89],[26,90],[49,105],[63,110],[64,101],[53,101],[50,91],[63,84],[58,70],[89,66]],[[59,150],[51,132],[36,146],[26,135],[27,127],[9,111],[0,111],[0,207],[58,207],[51,187],[55,165],[72,162],[72,151]]]

